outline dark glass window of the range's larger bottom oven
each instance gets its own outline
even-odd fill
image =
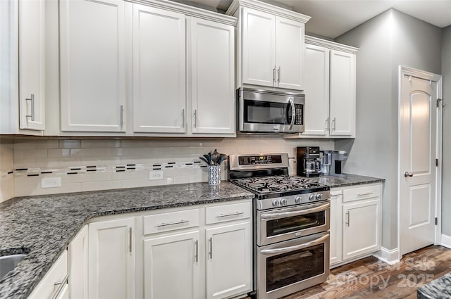
[[[266,292],[323,274],[324,258],[324,243],[268,257]]]

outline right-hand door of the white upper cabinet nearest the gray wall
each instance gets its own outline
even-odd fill
[[[330,135],[355,134],[355,55],[330,50]]]

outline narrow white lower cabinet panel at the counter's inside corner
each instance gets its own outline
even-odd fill
[[[68,246],[70,298],[87,299],[88,234],[87,225]]]

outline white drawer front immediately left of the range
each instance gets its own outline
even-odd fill
[[[218,205],[205,209],[205,224],[214,224],[251,217],[251,203]]]

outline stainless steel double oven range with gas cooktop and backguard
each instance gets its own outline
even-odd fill
[[[229,180],[254,197],[254,292],[276,299],[329,275],[330,188],[288,175],[288,154],[230,155]]]

